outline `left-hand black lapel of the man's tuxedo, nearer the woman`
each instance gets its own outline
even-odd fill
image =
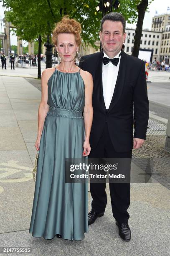
[[[103,51],[99,53],[99,58],[96,63],[96,72],[95,72],[95,88],[96,88],[96,97],[101,105],[101,108],[106,109],[103,97],[103,79],[102,79],[102,67],[103,67]]]

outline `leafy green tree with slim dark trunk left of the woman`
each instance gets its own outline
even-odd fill
[[[48,3],[39,0],[5,0],[9,11],[5,11],[5,18],[13,23],[16,35],[25,41],[38,41],[38,78],[41,78],[41,44],[46,39],[46,33],[51,33],[51,28],[46,20],[51,16]]]

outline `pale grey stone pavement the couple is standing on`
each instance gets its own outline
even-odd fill
[[[130,242],[122,241],[118,235],[108,186],[105,215],[89,226],[83,241],[71,242],[56,237],[46,240],[28,233],[35,187],[32,178],[36,156],[34,143],[41,99],[36,86],[29,78],[0,76],[0,247],[30,247],[32,253],[23,255],[33,256],[170,255],[170,153],[164,151],[166,125],[153,118],[150,118],[143,148],[133,151],[134,157],[154,157],[157,163],[152,183],[131,184]],[[90,204],[89,192],[89,209]]]

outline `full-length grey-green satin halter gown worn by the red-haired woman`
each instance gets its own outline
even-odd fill
[[[55,68],[48,80],[48,105],[40,141],[29,233],[82,240],[88,232],[88,184],[65,183],[65,158],[84,158],[84,82],[80,72]],[[86,157],[87,158],[87,157]]]

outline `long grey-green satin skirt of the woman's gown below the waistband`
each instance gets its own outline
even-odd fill
[[[41,135],[29,233],[82,240],[88,232],[88,183],[65,183],[65,158],[84,158],[84,120],[47,115]]]

